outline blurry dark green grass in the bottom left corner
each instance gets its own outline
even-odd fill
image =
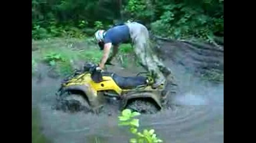
[[[50,142],[40,130],[40,116],[37,110],[32,110],[32,143]]]

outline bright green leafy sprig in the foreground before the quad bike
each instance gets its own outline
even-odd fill
[[[135,116],[140,115],[140,113],[132,112],[129,109],[122,111],[122,115],[118,116],[119,126],[129,126],[129,132],[134,134],[134,138],[129,139],[131,143],[156,143],[162,142],[161,139],[156,138],[155,130],[143,129],[143,132],[138,132],[138,127],[140,126],[139,120],[134,119]]]

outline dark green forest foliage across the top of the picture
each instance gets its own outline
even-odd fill
[[[131,19],[159,36],[209,40],[224,35],[223,9],[221,0],[32,0],[32,38],[85,38]]]

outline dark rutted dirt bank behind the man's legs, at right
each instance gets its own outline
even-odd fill
[[[212,70],[223,73],[224,49],[207,43],[194,43],[188,41],[173,41],[157,39],[157,51],[159,57],[167,63],[185,67],[196,73],[205,74]]]

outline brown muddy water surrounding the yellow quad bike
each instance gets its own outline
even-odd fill
[[[153,128],[164,142],[224,142],[223,85],[203,82],[183,65],[167,60],[180,92],[171,97],[171,110],[153,116],[140,116],[141,128]],[[113,69],[115,70],[115,69]],[[122,70],[116,70],[124,74]],[[59,80],[32,79],[32,105],[40,107],[43,132],[53,142],[127,143],[129,132],[117,126],[115,115],[68,114],[51,109]]]

